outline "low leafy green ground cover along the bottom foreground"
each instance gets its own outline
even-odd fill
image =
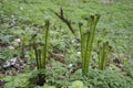
[[[4,88],[9,87],[24,87],[24,88],[45,88],[49,86],[55,86],[55,88],[132,88],[133,79],[124,76],[120,70],[99,70],[90,68],[88,77],[82,76],[82,69],[78,69],[75,73],[70,74],[70,70],[66,67],[63,67],[61,63],[52,62],[54,67],[50,67],[47,74],[45,86],[30,86],[28,77],[32,74],[32,70],[29,73],[19,74],[13,78],[7,76],[4,80],[7,84]],[[58,67],[55,67],[58,64]],[[60,68],[61,67],[61,68]],[[55,69],[55,70],[53,70]],[[69,76],[65,74],[68,73]],[[20,79],[21,78],[21,79]],[[63,80],[63,81],[62,81]],[[49,86],[48,86],[49,85]]]

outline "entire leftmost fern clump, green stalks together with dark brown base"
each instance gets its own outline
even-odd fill
[[[38,79],[37,85],[42,86],[45,82],[45,62],[47,62],[47,52],[48,52],[48,37],[49,37],[49,20],[45,20],[45,26],[42,31],[42,35],[33,35],[33,50],[35,54],[35,63],[38,68]]]

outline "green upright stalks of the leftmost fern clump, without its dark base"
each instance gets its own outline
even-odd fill
[[[45,29],[42,32],[41,35],[33,35],[33,50],[35,54],[35,62],[38,69],[45,68],[45,62],[47,62],[47,52],[48,52],[48,33],[49,33],[49,21],[45,21]],[[35,40],[37,37],[37,40]]]

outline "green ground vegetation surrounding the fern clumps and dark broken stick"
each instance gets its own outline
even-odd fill
[[[30,44],[33,41],[32,35],[40,34],[39,37],[41,37],[41,30],[45,24],[44,20],[49,19],[47,85],[57,88],[82,88],[82,85],[83,88],[132,88],[132,6],[133,0],[0,0],[1,87],[41,88],[32,86],[35,82],[33,78],[38,73],[34,52]],[[74,35],[65,23],[54,14],[54,12],[60,12],[60,8],[63,9],[64,15],[71,20]],[[96,70],[98,55],[93,52],[89,77],[83,78],[80,67],[80,30],[78,24],[82,22],[83,28],[86,29],[86,18],[96,13],[101,18],[96,25],[95,41],[101,38],[103,29],[106,29],[105,40],[110,41],[113,51],[108,57],[108,68],[103,72]],[[96,43],[94,43],[94,51],[96,48]],[[20,69],[16,70],[14,67],[2,68],[4,62],[13,57],[24,62],[22,63],[24,69],[18,73]],[[78,70],[71,74],[71,70],[75,68]],[[7,75],[7,72],[10,74]],[[33,80],[32,82],[29,81],[30,78]],[[74,85],[71,81],[74,81]],[[81,87],[75,86],[79,82]],[[44,86],[44,88],[49,88],[49,86]]]

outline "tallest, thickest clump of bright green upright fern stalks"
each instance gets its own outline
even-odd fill
[[[99,14],[90,15],[88,21],[89,30],[82,29],[82,24],[79,23],[80,35],[81,35],[81,58],[82,58],[82,74],[89,73],[89,66],[91,62],[91,53],[93,50],[93,42],[95,36],[95,28],[100,19]]]

